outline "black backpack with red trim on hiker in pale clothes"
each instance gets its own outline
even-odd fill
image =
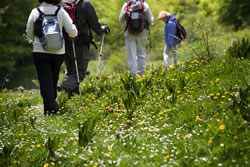
[[[126,8],[126,29],[130,33],[139,33],[144,29],[143,0],[130,0]],[[125,29],[125,30],[126,30]]]

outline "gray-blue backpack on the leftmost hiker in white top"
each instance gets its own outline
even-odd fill
[[[58,6],[55,14],[44,14],[39,8],[39,18],[41,21],[41,36],[39,37],[42,47],[46,51],[56,51],[63,46],[63,36],[61,35],[60,25],[57,14],[60,10]]]

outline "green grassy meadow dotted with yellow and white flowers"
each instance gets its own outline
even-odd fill
[[[88,76],[83,105],[76,95],[51,117],[39,92],[1,94],[0,164],[248,166],[249,65],[228,55],[190,60],[144,78],[102,76],[96,88]]]

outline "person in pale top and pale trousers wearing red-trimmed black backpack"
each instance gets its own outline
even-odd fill
[[[140,27],[137,30],[133,29],[133,21],[130,20],[129,13],[132,11],[133,5],[143,3],[142,8],[142,21],[139,20]],[[139,4],[140,5],[140,4]],[[140,8],[140,7],[139,7]],[[141,14],[135,14],[141,15]],[[147,28],[153,24],[154,17],[150,11],[149,5],[143,0],[129,0],[122,6],[119,21],[125,26],[125,42],[127,50],[127,59],[130,73],[133,76],[145,74],[146,63],[146,41],[147,41]]]

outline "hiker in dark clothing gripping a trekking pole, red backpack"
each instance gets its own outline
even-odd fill
[[[75,43],[75,52],[76,52],[76,61],[79,73],[80,82],[85,78],[88,63],[90,60],[89,55],[89,47],[90,44],[93,44],[95,47],[95,43],[92,41],[92,33],[91,30],[97,35],[103,35],[107,32],[107,25],[101,26],[96,11],[92,4],[88,0],[77,0],[75,1],[76,9],[75,9],[75,24],[79,31],[79,35]],[[64,90],[68,93],[69,97],[73,95],[73,93],[79,92],[79,82],[77,79],[77,71],[75,67],[75,58],[73,53],[72,41],[69,39],[66,40],[66,57],[65,64],[67,73],[64,77],[63,82],[58,86],[58,90]],[[96,47],[97,49],[97,47]]]

